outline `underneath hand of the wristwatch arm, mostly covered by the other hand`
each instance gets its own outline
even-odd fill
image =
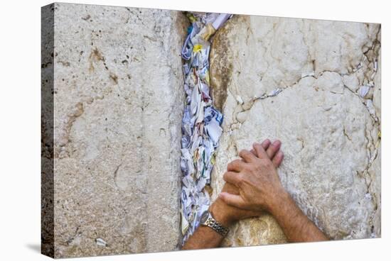
[[[279,151],[281,143],[277,145],[270,145],[270,143],[270,140],[267,139],[264,140],[262,144],[258,144],[262,146],[264,150],[267,150],[274,167],[277,168],[279,167],[279,165],[281,165],[281,162],[284,157],[282,151]],[[250,152],[255,156],[257,155],[255,149],[250,150]],[[227,194],[231,195],[240,195],[239,189],[234,184],[230,184],[228,182],[224,184],[222,192],[226,192]],[[253,216],[260,216],[260,214],[262,213],[262,211],[260,210],[238,209],[235,206],[226,204],[223,199],[220,199],[220,197],[216,199],[213,204],[210,205],[209,211],[212,213],[212,216],[218,222],[223,224],[223,226],[230,226],[230,224],[235,221],[250,218]]]

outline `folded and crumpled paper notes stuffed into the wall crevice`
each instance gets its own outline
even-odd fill
[[[183,243],[200,225],[210,198],[205,187],[215,162],[215,151],[223,132],[223,114],[213,107],[210,96],[210,38],[232,15],[226,13],[187,13],[191,26],[181,50],[185,64],[186,104],[181,138],[181,231]]]

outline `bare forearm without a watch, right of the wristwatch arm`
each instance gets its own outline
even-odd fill
[[[286,192],[282,194],[281,199],[271,212],[290,242],[328,240],[326,235],[304,215],[303,211],[296,206],[294,200]]]

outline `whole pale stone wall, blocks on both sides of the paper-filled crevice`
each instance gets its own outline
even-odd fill
[[[188,19],[78,4],[42,14],[43,253],[178,250]],[[316,225],[380,236],[379,25],[235,15],[213,39],[210,77],[225,116],[213,199],[239,150],[279,138],[282,183]],[[284,242],[264,213],[224,245]]]

